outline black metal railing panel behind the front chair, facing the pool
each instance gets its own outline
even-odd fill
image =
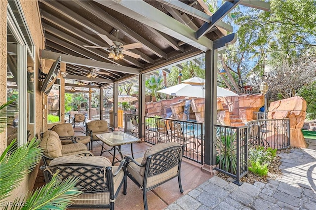
[[[178,142],[185,145],[184,157],[203,164],[203,123],[145,117],[145,141],[151,144]]]

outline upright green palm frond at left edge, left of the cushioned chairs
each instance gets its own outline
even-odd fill
[[[12,141],[0,157],[0,200],[8,197],[10,192],[19,186],[24,176],[40,162],[42,155],[40,141],[36,138],[12,149],[14,142]]]

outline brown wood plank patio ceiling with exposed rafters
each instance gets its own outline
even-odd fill
[[[160,15],[158,19],[160,18],[161,21],[169,20],[171,22],[170,27],[162,26],[162,23],[157,23],[157,27],[155,27],[153,22],[147,24],[146,21],[140,21],[139,16],[127,14],[128,10],[123,5],[112,0],[100,2],[93,0],[40,0],[39,6],[46,50],[114,64],[113,66],[117,67],[136,68],[140,72],[154,70],[156,67],[161,68],[163,64],[170,64],[203,53],[205,51],[203,49],[209,48],[209,46],[202,46],[203,43],[209,42],[207,45],[211,45],[211,41],[208,40],[216,40],[224,36],[224,30],[219,30],[214,26],[203,35],[203,40],[200,41],[202,44],[194,40],[195,37],[190,38],[190,33],[196,32],[207,22],[207,17],[210,17],[203,11],[204,2],[200,0],[173,0],[172,2],[175,2],[176,5],[169,4],[168,1],[164,0],[141,2],[135,0],[134,3],[143,7],[142,9],[148,10],[148,12],[158,12],[151,15]],[[179,35],[176,32],[177,29],[172,29],[172,24],[179,25],[180,31],[185,33],[188,31],[189,35],[185,33]],[[125,54],[123,59],[114,61],[108,58],[109,49],[84,47],[84,45],[110,47],[98,34],[106,35],[115,41],[116,29],[119,30],[118,41],[123,45],[142,43],[143,47],[141,48],[127,50],[140,55],[140,58],[136,59]],[[187,41],[188,39],[189,41]],[[99,88],[111,82],[135,76],[135,73],[129,73],[128,70],[124,71],[123,68],[120,71],[99,68],[100,72],[108,72],[109,75],[96,72],[99,79],[86,77],[93,68],[95,67],[80,63],[67,63],[68,75],[66,78],[77,80],[86,78],[88,85]]]

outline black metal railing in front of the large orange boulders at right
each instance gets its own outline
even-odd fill
[[[290,146],[290,120],[264,119],[247,122],[249,126],[249,147],[270,147],[286,149]]]

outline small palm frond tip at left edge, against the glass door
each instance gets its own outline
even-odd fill
[[[18,106],[14,102],[15,100],[13,99],[0,105],[0,133],[2,133],[6,127],[10,126],[11,121],[8,119],[14,119],[18,113]]]

